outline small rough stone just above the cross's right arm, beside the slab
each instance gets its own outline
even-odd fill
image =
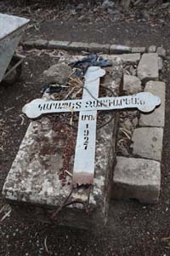
[[[123,90],[125,90],[128,95],[136,94],[142,91],[141,81],[137,77],[124,74]]]

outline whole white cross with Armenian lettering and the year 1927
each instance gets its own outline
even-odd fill
[[[149,92],[140,92],[133,96],[98,97],[99,78],[104,75],[105,70],[100,67],[88,67],[84,76],[82,100],[36,99],[22,109],[31,119],[42,113],[80,112],[73,167],[73,183],[79,185],[94,182],[97,110],[138,108],[142,112],[150,112],[161,104],[160,98]]]

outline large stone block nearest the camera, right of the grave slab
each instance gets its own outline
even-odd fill
[[[113,199],[137,199],[156,203],[161,187],[161,165],[155,160],[117,157],[111,195]]]

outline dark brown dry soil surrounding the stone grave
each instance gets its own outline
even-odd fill
[[[4,2],[4,1],[3,1]],[[31,14],[32,19],[34,13]],[[169,25],[119,21],[89,24],[83,21],[59,20],[42,22],[39,31],[31,28],[25,38],[94,41],[135,46],[161,45],[168,50]],[[41,96],[42,71],[54,63],[49,55],[24,51],[26,61],[20,82],[11,87],[0,86],[0,189],[26,133],[29,121],[20,116],[21,108]],[[54,60],[54,59],[53,59]],[[137,201],[111,201],[109,221],[100,231],[83,231],[42,224],[20,218],[17,212],[0,222],[0,255],[125,255],[167,256],[170,245],[170,61],[164,61],[161,80],[167,83],[166,126],[161,164],[161,198],[157,205]],[[0,209],[5,204],[0,197]],[[0,213],[0,219],[5,212]],[[162,240],[162,238],[164,238]],[[45,242],[46,241],[46,242]],[[46,244],[46,246],[45,246]]]

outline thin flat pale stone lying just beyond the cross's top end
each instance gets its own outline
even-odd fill
[[[137,64],[140,60],[140,54],[123,54],[123,55],[102,55],[107,60],[111,61],[115,58],[120,58],[123,63]]]

